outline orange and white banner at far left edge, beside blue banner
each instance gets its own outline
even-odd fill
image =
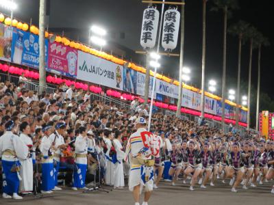
[[[12,27],[0,23],[0,59],[10,61],[12,46]]]

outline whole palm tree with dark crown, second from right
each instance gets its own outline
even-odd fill
[[[258,31],[255,27],[249,27],[247,29],[247,38],[250,40],[249,48],[249,88],[247,94],[247,130],[250,128],[250,95],[251,95],[251,68],[252,68],[252,52],[253,52],[253,41],[258,35]]]

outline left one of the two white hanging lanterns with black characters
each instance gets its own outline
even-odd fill
[[[140,44],[144,49],[152,49],[155,46],[159,23],[159,11],[150,6],[145,9],[142,16],[142,31]]]

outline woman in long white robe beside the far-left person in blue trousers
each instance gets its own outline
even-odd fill
[[[20,138],[25,143],[25,145],[32,150],[33,142],[28,136],[30,134],[29,124],[27,122],[22,122],[20,125],[21,135]],[[27,194],[32,193],[34,185],[34,167],[32,163],[32,152],[29,152],[29,157],[25,160],[20,160],[21,170],[20,176],[22,180],[20,181],[20,193]]]

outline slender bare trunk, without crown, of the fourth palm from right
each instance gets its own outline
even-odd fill
[[[227,6],[223,9],[223,87],[222,87],[222,129],[225,131],[225,75],[227,68]]]

